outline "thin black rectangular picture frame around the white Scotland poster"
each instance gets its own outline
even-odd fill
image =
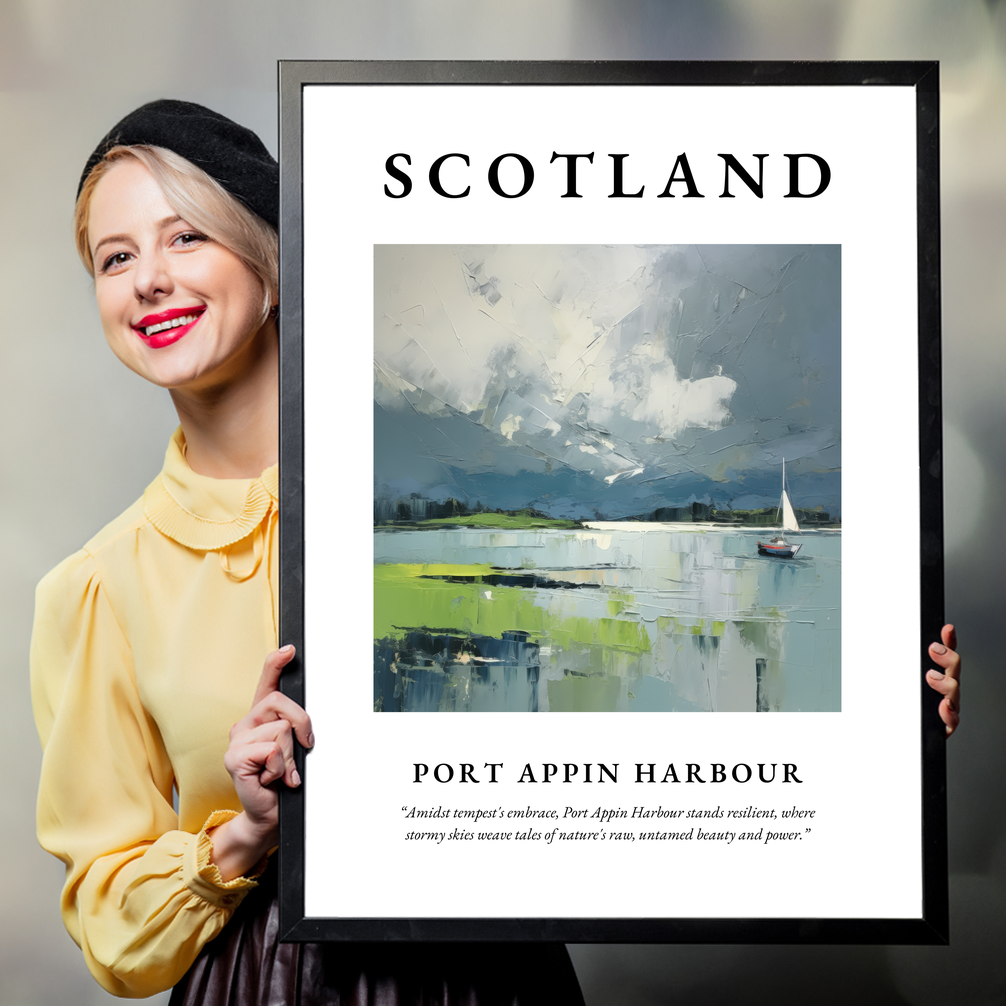
[[[304,786],[281,797],[280,921],[286,941],[561,941],[567,943],[943,944],[949,940],[945,733],[939,696],[925,683],[927,648],[943,625],[943,488],[939,65],[936,62],[499,62],[281,61],[281,605],[280,637],[298,655],[283,690],[311,710],[305,649],[302,101],[308,86],[528,85],[787,88],[907,87],[914,91],[917,182],[918,487],[923,904],[910,918],[445,918],[316,917],[305,913]],[[333,868],[352,868],[336,864]]]

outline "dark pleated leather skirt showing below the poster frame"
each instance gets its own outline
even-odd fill
[[[275,870],[170,1006],[583,1006],[562,944],[281,944]]]

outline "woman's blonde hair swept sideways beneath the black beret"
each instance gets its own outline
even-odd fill
[[[92,279],[95,262],[88,242],[91,199],[116,161],[132,158],[154,176],[168,205],[207,237],[233,252],[263,286],[263,323],[279,298],[280,239],[276,229],[235,199],[202,168],[165,147],[113,147],[95,165],[76,197],[73,237],[76,253]]]

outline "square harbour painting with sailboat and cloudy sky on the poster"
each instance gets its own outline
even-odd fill
[[[841,708],[835,245],[378,245],[381,712]]]

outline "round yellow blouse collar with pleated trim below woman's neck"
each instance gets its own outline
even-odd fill
[[[161,474],[143,495],[143,512],[186,548],[215,551],[250,534],[279,502],[279,466],[258,479],[211,479],[185,461],[181,427],[173,434]]]

